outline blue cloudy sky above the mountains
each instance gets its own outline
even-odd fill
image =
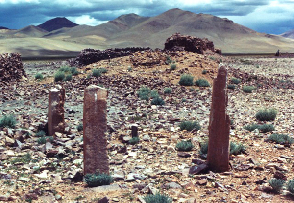
[[[294,29],[294,0],[0,0],[0,26],[20,29],[55,17],[95,26],[123,14],[152,17],[172,8],[228,18],[258,32]]]

